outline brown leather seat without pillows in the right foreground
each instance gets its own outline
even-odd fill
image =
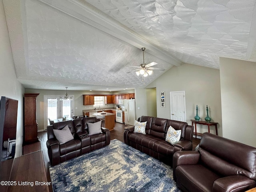
[[[244,192],[256,187],[256,148],[204,133],[198,151],[174,154],[173,177],[184,192]]]

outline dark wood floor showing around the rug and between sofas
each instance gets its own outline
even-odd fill
[[[115,123],[114,130],[110,131],[110,139],[117,139],[122,142],[124,142],[124,128],[126,126],[122,123]],[[47,132],[38,132],[38,138],[41,142],[41,148],[44,156],[44,164],[45,164],[45,169],[46,169],[46,175],[47,175],[47,181],[51,182],[50,179],[50,172],[49,172],[49,162],[50,159],[48,157],[48,150],[46,147],[46,141],[47,141]],[[193,138],[193,150],[194,148],[199,144],[200,139],[195,139]],[[49,191],[52,192],[52,187],[50,185]]]

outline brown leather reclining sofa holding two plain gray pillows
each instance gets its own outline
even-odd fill
[[[101,128],[102,133],[88,135],[87,123],[98,122],[96,117],[74,119],[73,121],[63,121],[47,126],[48,140],[46,146],[52,166],[66,160],[78,157],[92,150],[102,148],[110,144],[110,131],[107,128]],[[60,144],[54,136],[53,129],[61,130],[68,125],[74,140]]]

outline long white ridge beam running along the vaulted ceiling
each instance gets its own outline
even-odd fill
[[[86,2],[78,2],[77,0],[39,0],[49,6],[60,10],[86,24],[114,36],[137,48],[146,47],[146,52],[172,64],[180,66],[181,62],[150,42],[146,41],[142,36],[130,30],[126,26],[113,20],[100,10],[91,6]]]

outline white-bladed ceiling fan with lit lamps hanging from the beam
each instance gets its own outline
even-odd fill
[[[136,72],[136,74],[139,76],[140,74],[142,75],[142,81],[144,81],[144,77],[151,75],[152,74],[152,70],[160,70],[160,71],[164,71],[165,69],[163,68],[156,68],[156,67],[152,67],[158,63],[156,62],[151,62],[149,64],[146,64],[144,62],[144,50],[146,50],[146,48],[142,47],[141,48],[142,52],[143,52],[143,63],[140,64],[140,66],[126,66],[126,67],[136,67],[138,69],[132,70],[130,72],[127,73],[131,73],[131,72]]]

